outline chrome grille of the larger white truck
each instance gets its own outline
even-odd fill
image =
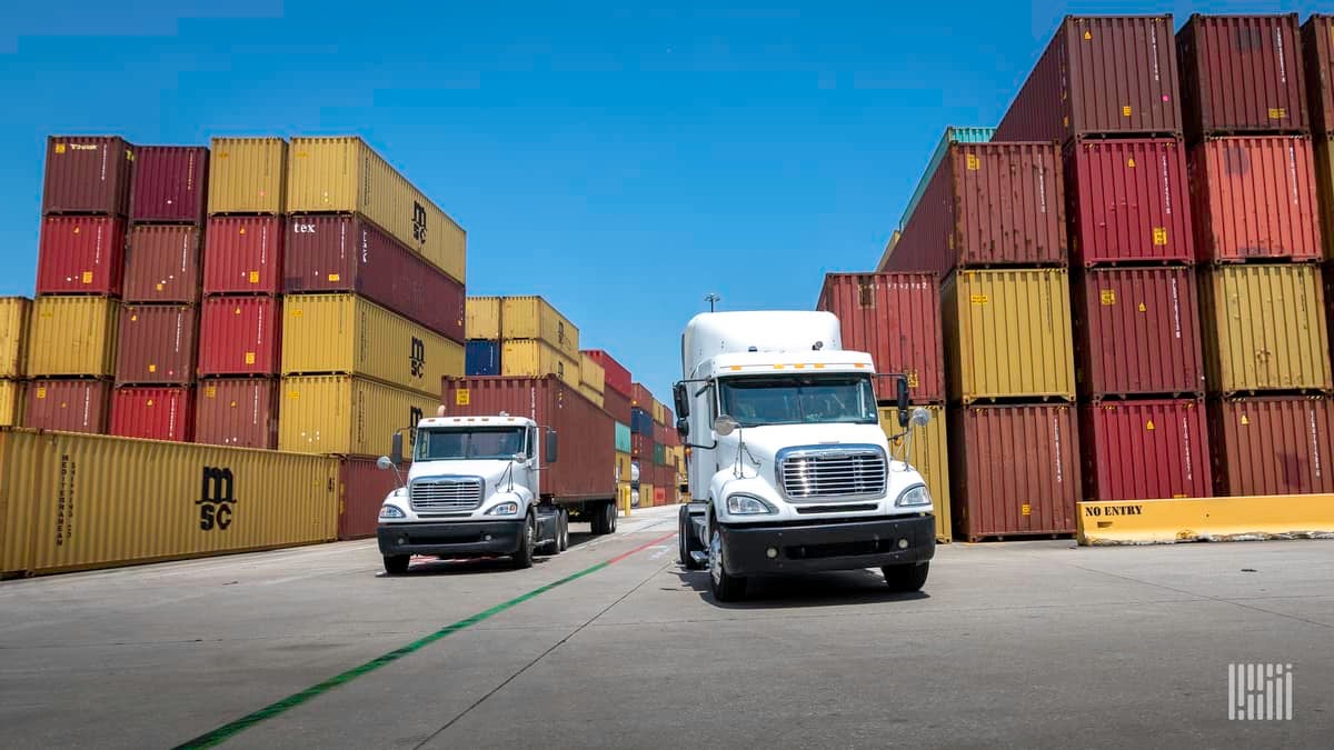
[[[790,500],[862,500],[884,496],[884,454],[864,448],[788,448],[779,454],[779,480]]]

